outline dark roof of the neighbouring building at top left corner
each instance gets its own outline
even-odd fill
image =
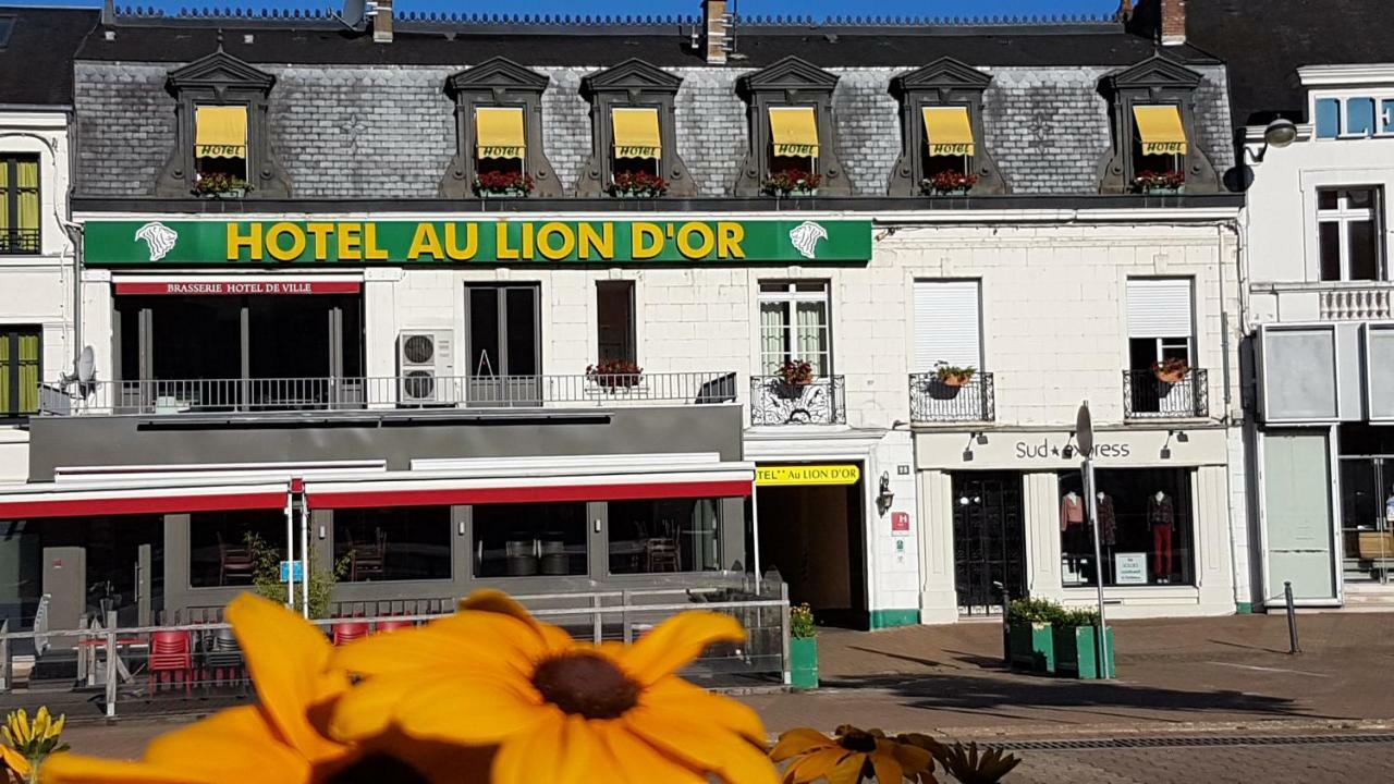
[[[0,105],[68,106],[72,103],[72,54],[96,27],[89,8],[0,6]]]

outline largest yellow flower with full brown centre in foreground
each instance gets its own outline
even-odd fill
[[[339,649],[333,665],[365,681],[335,706],[330,734],[496,745],[493,784],[772,784],[756,713],[675,675],[743,639],[726,615],[684,612],[631,646],[591,646],[478,591],[456,615]]]

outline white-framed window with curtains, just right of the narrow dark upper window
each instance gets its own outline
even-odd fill
[[[832,374],[828,283],[760,285],[760,368],[775,375],[786,361],[806,361],[814,378]]]

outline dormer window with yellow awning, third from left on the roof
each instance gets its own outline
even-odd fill
[[[697,195],[677,155],[673,100],[683,80],[643,60],[626,60],[581,80],[591,103],[591,156],[576,195],[620,198]]]

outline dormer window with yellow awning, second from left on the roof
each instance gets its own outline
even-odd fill
[[[446,80],[457,146],[441,180],[442,198],[562,195],[542,152],[542,91],[549,81],[503,57]]]

